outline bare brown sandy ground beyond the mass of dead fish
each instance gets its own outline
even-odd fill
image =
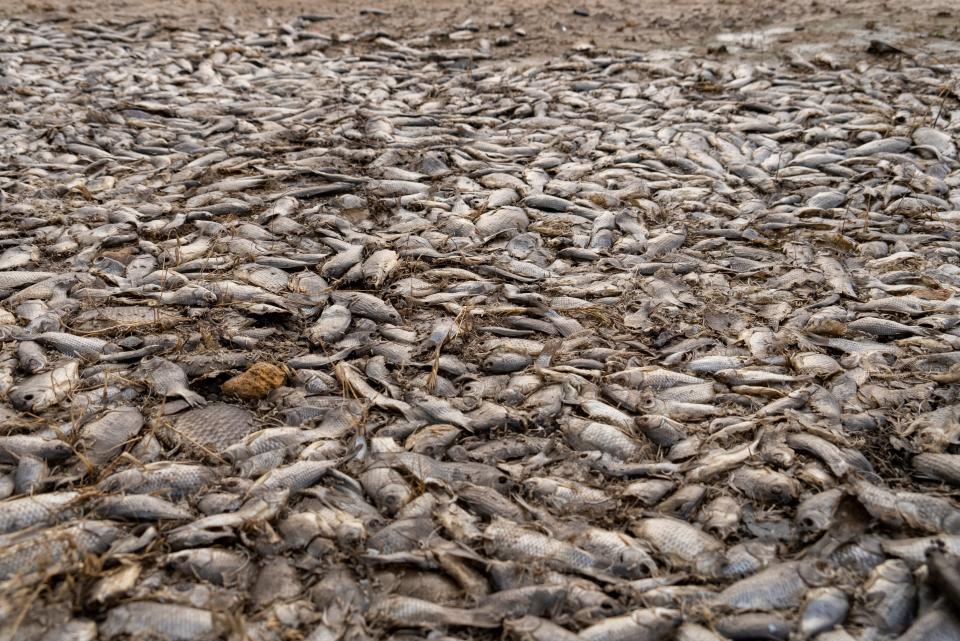
[[[149,18],[171,27],[227,22],[255,31],[296,24],[353,48],[375,35],[426,36],[436,46],[476,46],[486,38],[501,59],[550,58],[584,44],[637,50],[726,44],[732,54],[763,54],[818,43],[862,49],[882,39],[924,51],[960,37],[955,0],[2,0],[0,17]]]

